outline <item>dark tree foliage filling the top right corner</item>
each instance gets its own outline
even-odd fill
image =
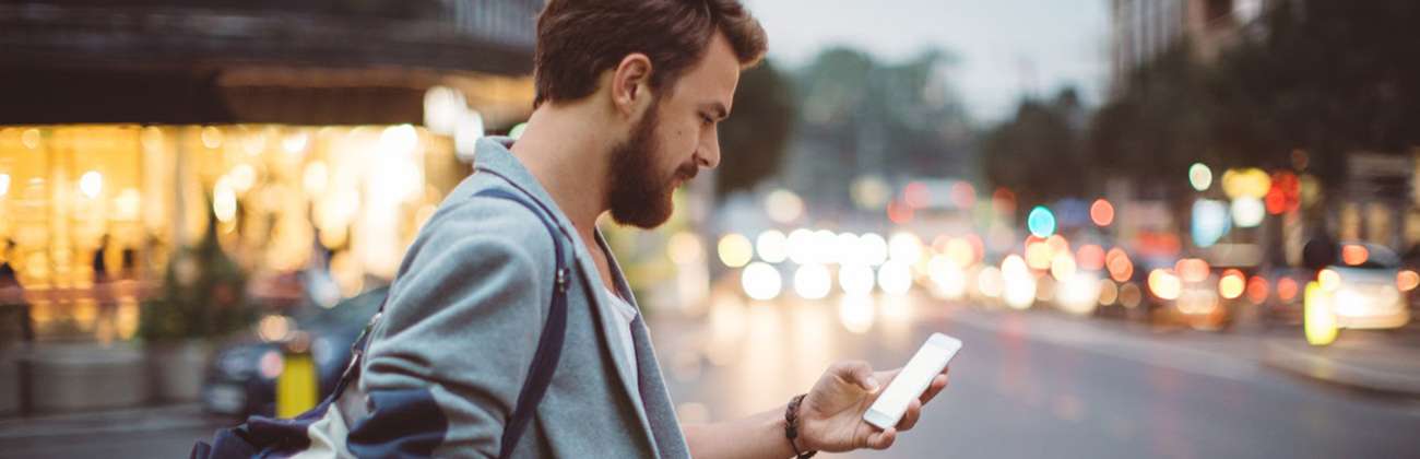
[[[1221,57],[1216,85],[1248,109],[1237,131],[1271,162],[1308,149],[1314,173],[1338,185],[1352,151],[1420,145],[1417,23],[1411,0],[1284,1]]]

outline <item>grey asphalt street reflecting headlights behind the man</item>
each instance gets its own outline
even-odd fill
[[[660,313],[653,340],[683,419],[784,404],[829,362],[893,368],[933,331],[961,338],[951,382],[886,452],[841,458],[1400,458],[1420,402],[1301,381],[1235,334],[1157,335],[1051,311],[927,297],[741,303]],[[861,330],[863,333],[852,333]],[[226,422],[197,406],[0,422],[4,458],[173,458]]]

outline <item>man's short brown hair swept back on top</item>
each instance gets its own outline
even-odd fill
[[[741,65],[764,57],[764,28],[738,0],[548,0],[537,18],[532,107],[591,95],[598,75],[632,53],[650,58],[659,91],[704,55],[716,31]]]

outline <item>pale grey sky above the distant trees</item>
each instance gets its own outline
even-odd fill
[[[798,68],[831,45],[888,63],[927,48],[977,122],[1014,114],[1022,94],[1074,85],[1098,105],[1109,78],[1108,0],[746,0],[770,36],[770,60]]]

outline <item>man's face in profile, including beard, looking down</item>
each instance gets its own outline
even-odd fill
[[[612,151],[608,200],[621,225],[656,227],[670,217],[672,193],[700,168],[720,163],[717,125],[730,115],[740,61],[716,33],[706,55],[656,95]]]

